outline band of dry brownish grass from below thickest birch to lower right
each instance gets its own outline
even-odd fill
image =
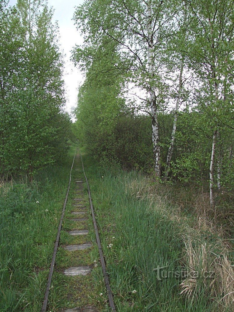
[[[188,272],[180,284],[181,295],[196,299],[197,294],[204,291],[218,302],[220,311],[234,305],[234,269],[228,257],[231,250],[228,233],[233,226],[233,215],[228,215],[229,222],[223,224],[227,215],[222,209],[210,208],[208,194],[153,183],[142,175],[132,179],[125,188],[132,196],[147,200],[149,209],[158,209],[170,220],[179,222],[184,242],[181,265]],[[192,212],[191,216],[186,216],[186,210]]]

